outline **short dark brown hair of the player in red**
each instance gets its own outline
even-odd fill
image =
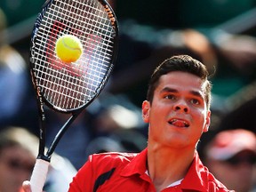
[[[147,100],[152,102],[154,98],[154,92],[159,83],[161,76],[168,74],[172,71],[183,71],[193,74],[200,77],[203,82],[206,83],[204,94],[207,104],[207,108],[210,108],[211,105],[211,92],[212,84],[208,80],[209,73],[202,62],[199,60],[193,59],[188,55],[176,55],[171,58],[164,60],[153,72],[149,84],[148,84],[148,93]]]

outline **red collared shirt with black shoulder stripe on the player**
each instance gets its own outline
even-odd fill
[[[156,192],[152,180],[146,173],[146,148],[140,154],[105,153],[89,157],[70,183],[68,192]],[[164,188],[171,191],[209,191],[228,190],[202,164],[198,154],[194,157],[188,173],[179,185]]]

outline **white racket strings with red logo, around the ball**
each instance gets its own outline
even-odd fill
[[[65,34],[77,36],[84,52],[64,63],[54,49]],[[100,92],[112,68],[115,28],[104,7],[94,0],[55,1],[45,12],[36,34],[34,71],[44,97],[60,110],[84,106]]]

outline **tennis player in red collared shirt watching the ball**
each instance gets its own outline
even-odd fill
[[[148,147],[139,154],[90,156],[68,191],[231,191],[214,178],[196,151],[210,125],[211,90],[200,61],[188,55],[164,60],[151,76],[142,103]]]

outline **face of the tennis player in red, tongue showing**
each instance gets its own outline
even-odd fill
[[[185,72],[161,76],[152,103],[146,100],[142,104],[144,122],[149,124],[148,142],[168,148],[195,148],[210,124],[204,86],[199,77]]]

